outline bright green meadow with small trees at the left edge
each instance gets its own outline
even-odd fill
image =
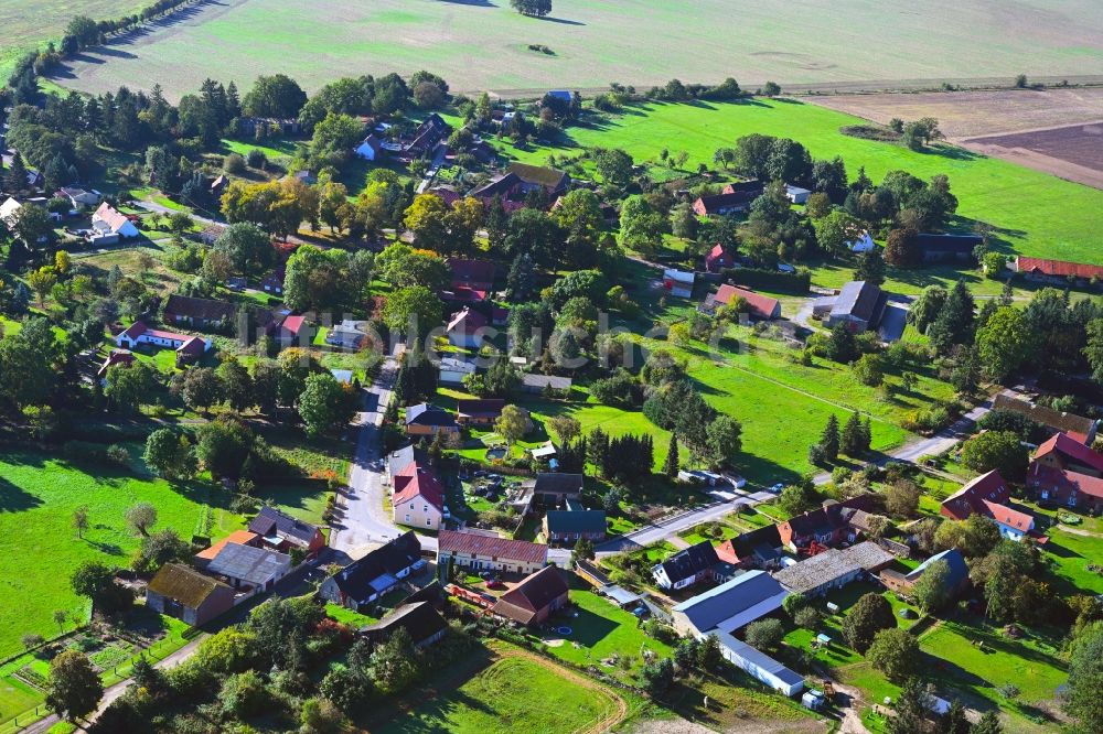
[[[87,602],[71,591],[69,575],[85,560],[130,563],[139,539],[126,527],[127,508],[151,503],[156,528],[173,528],[189,539],[205,515],[203,494],[105,467],[86,471],[39,453],[0,453],[0,657],[17,652],[23,634],[57,635],[55,611],[87,617]],[[73,511],[81,506],[88,507],[90,526],[84,539],[73,529]],[[214,537],[242,525],[240,517],[217,507],[212,519]]]

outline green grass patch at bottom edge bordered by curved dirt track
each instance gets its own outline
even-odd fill
[[[612,714],[614,706],[604,689],[579,684],[559,674],[552,665],[527,657],[505,657],[459,688],[437,691],[408,713],[373,731],[566,734],[589,731]]]

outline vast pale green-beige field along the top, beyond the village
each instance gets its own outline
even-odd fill
[[[1010,79],[1021,71],[1101,74],[1101,37],[1103,14],[1092,0],[1054,0],[1045,10],[1021,0],[933,0],[922,14],[902,0],[872,12],[860,0],[737,9],[724,0],[557,0],[544,20],[486,0],[236,0],[154,25],[109,56],[89,54],[72,72],[82,89],[160,82],[173,96],[197,89],[206,76],[232,74],[240,85],[277,71],[310,89],[340,76],[335,69],[382,76],[428,68],[461,90],[602,87],[614,79],[645,86],[673,76],[735,75],[754,84]]]

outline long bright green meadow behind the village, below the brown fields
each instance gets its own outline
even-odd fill
[[[859,166],[875,182],[892,170],[921,179],[944,173],[966,220],[983,220],[997,229],[1008,250],[1022,255],[1080,262],[1099,262],[1096,229],[1103,211],[1103,191],[1062,181],[1014,163],[985,158],[960,148],[939,145],[914,152],[901,145],[852,138],[838,129],[861,122],[856,117],[795,100],[756,98],[742,104],[649,104],[612,116],[591,128],[569,128],[559,149],[533,147],[520,151],[500,144],[518,160],[544,165],[549,153],[577,147],[622,148],[636,162],[658,162],[658,153],[685,151],[686,171],[698,163],[713,165],[718,148],[731,147],[746,134],[788,137],[803,143],[815,158],[842,155],[853,179]],[[967,226],[970,222],[963,222]],[[915,271],[914,287],[925,284]],[[845,273],[831,280],[845,279]],[[920,282],[923,281],[923,282]]]

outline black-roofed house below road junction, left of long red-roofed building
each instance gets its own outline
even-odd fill
[[[328,602],[358,612],[425,565],[421,543],[409,530],[334,573],[318,593]]]

